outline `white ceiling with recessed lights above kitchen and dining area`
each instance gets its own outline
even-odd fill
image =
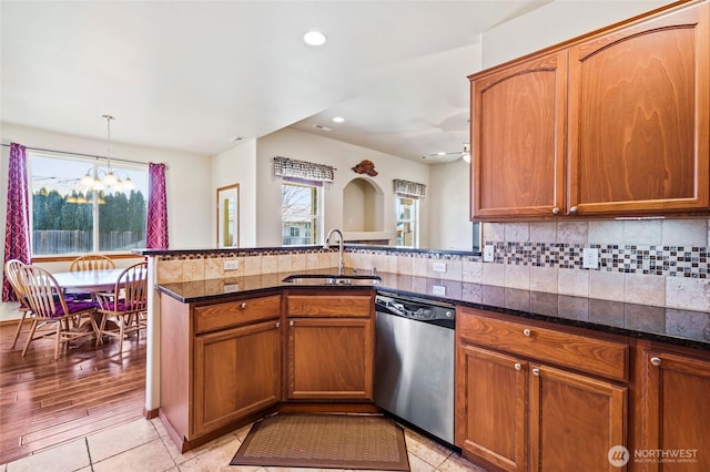
[[[420,161],[468,141],[479,34],[547,2],[2,0],[0,119],[105,138],[112,114],[114,142],[204,155],[293,126]]]

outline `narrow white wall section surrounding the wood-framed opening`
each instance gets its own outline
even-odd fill
[[[216,189],[240,184],[240,247],[256,246],[256,140],[244,141],[212,157],[212,206]],[[216,211],[212,212],[212,244],[216,247]]]

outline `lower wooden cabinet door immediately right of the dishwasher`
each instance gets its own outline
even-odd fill
[[[456,445],[506,471],[526,470],[527,362],[459,345]]]

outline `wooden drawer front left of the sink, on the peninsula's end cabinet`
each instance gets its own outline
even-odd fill
[[[276,318],[280,314],[281,295],[196,307],[195,332]]]

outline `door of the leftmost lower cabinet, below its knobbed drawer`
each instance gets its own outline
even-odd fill
[[[278,325],[273,320],[195,337],[196,435],[280,400],[282,351]]]

